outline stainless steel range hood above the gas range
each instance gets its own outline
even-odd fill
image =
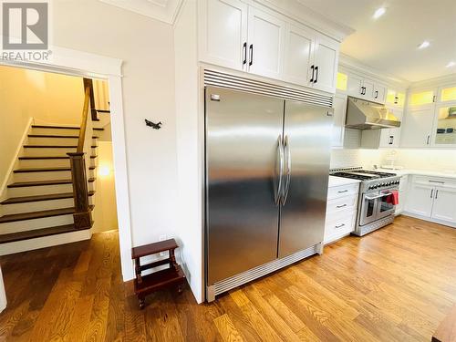
[[[356,130],[389,129],[400,127],[400,121],[383,105],[348,97],[345,127]]]

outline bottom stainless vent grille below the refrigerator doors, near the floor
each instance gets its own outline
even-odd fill
[[[320,244],[316,244],[315,246],[307,248],[303,251],[299,251],[295,254],[285,256],[284,258],[281,258],[281,259],[275,259],[274,261],[272,261],[270,263],[262,264],[255,268],[252,268],[248,271],[240,273],[239,275],[233,275],[230,278],[227,278],[221,282],[215,283],[213,285],[214,295],[223,294],[223,292],[231,290],[234,287],[251,282],[252,280],[260,278],[263,275],[270,274],[289,264],[293,264],[296,261],[302,260],[302,259],[306,258],[307,256],[316,254],[318,252],[319,245]]]

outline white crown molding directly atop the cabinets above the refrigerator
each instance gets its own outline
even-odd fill
[[[251,0],[251,2],[269,7],[303,25],[320,31],[326,36],[331,36],[339,42],[355,32],[353,28],[314,11],[299,0]]]

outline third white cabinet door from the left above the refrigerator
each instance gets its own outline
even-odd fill
[[[293,25],[286,26],[285,81],[309,86],[314,49],[315,34],[312,31]]]

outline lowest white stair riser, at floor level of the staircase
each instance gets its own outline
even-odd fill
[[[69,244],[77,241],[88,240],[91,237],[90,229],[71,233],[62,233],[50,236],[43,236],[36,239],[16,241],[14,243],[2,244],[0,255],[14,254],[25,251],[32,251],[39,248],[55,246],[57,244]]]

